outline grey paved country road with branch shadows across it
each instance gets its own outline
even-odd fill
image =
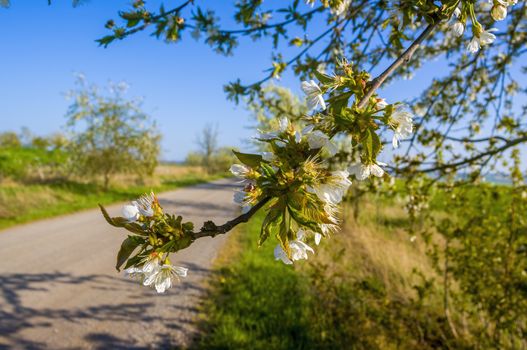
[[[201,224],[236,212],[232,180],[167,192],[162,206]],[[119,215],[120,205],[109,207]],[[199,226],[198,226],[199,227]],[[171,258],[189,277],[166,294],[114,269],[125,231],[91,210],[0,232],[0,349],[168,348],[194,331],[202,282],[225,236]]]

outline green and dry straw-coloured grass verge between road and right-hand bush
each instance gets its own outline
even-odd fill
[[[368,201],[358,222],[350,219],[294,268],[274,261],[272,240],[256,248],[261,216],[238,229],[217,262],[195,347],[459,347],[440,296],[423,301],[418,286],[434,271],[401,211],[395,203]]]

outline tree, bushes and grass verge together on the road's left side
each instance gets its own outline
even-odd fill
[[[160,164],[161,136],[140,101],[125,84],[106,90],[78,77],[64,134],[0,133],[0,229],[225,176],[216,136],[210,162]]]

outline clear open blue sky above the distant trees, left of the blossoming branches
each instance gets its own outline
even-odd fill
[[[214,53],[189,35],[178,44],[165,44],[142,33],[99,47],[95,39],[107,34],[106,20],[128,4],[91,0],[72,8],[69,0],[52,6],[46,0],[13,0],[11,8],[0,9],[0,130],[59,131],[69,104],[64,93],[80,72],[98,85],[126,81],[130,96],[144,98],[144,109],[163,133],[163,159],[184,159],[207,123],[218,123],[222,145],[243,147],[243,140],[254,134],[248,128],[251,120],[242,105],[226,100],[223,85],[236,78],[260,79],[270,64],[270,43],[243,40],[232,57]],[[222,19],[228,10],[219,13]],[[391,102],[413,97],[439,65],[444,64],[432,62],[411,83],[405,81],[403,93],[396,83],[383,95]],[[279,83],[300,93],[291,74]]]

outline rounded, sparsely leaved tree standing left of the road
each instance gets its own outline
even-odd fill
[[[110,84],[104,93],[81,76],[70,92],[66,117],[73,168],[83,176],[101,176],[105,189],[115,174],[148,176],[158,164],[161,136],[140,101],[125,99],[127,88]]]

